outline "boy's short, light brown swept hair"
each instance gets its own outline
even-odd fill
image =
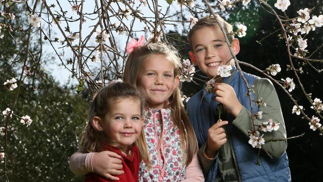
[[[219,20],[219,23],[221,23],[222,26],[224,27],[224,29],[226,31],[225,33],[227,34],[230,43],[232,43],[233,39],[235,38],[231,34],[231,32],[233,32],[233,26],[230,23],[228,23],[226,20],[224,20],[222,17],[217,16],[217,18]],[[201,17],[196,22],[196,24],[192,27],[192,29],[188,32],[188,42],[189,42],[189,44],[192,46],[191,37],[192,37],[192,35],[194,34],[194,32],[196,30],[199,30],[199,29],[205,28],[205,27],[210,27],[210,26],[217,26],[217,27],[220,28],[218,22],[216,21],[216,19],[214,18],[213,15]]]

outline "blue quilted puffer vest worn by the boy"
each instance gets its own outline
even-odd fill
[[[235,67],[232,73],[234,70],[236,70]],[[256,76],[247,73],[243,73],[243,75],[250,87],[254,85],[254,81],[257,79]],[[225,78],[224,83],[227,83],[228,79]],[[250,111],[250,101],[245,94],[247,88],[238,71],[232,76],[229,85],[234,88],[240,103]],[[194,128],[199,147],[207,141],[208,129],[218,119],[218,116],[216,116],[217,102],[215,101],[215,95],[205,92],[203,96],[204,92],[205,88],[194,94],[187,102],[189,119]],[[255,100],[253,93],[251,97]],[[256,113],[257,111],[258,107],[253,102],[252,112]],[[233,126],[232,121],[234,117],[231,114],[227,114],[226,118],[229,121],[229,130],[242,182],[291,182],[286,152],[279,159],[271,159],[265,153],[261,153],[261,165],[258,166],[256,164],[258,150],[252,148],[248,144],[249,138],[243,135],[237,127]],[[214,182],[217,172],[218,159],[207,174],[206,182]]]

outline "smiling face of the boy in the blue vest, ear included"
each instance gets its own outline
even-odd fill
[[[234,39],[232,49],[237,55],[240,51],[239,40]],[[194,65],[212,79],[222,65],[230,65],[232,55],[218,26],[209,26],[196,30],[191,36],[191,47],[196,58]]]

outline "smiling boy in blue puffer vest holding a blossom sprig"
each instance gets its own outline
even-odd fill
[[[232,49],[237,55],[239,40],[234,38],[232,25],[218,16],[224,26]],[[291,175],[286,154],[285,123],[274,86],[268,79],[243,73],[251,91],[252,100],[261,99],[265,104],[255,105],[252,113],[262,111],[262,118],[254,119],[255,125],[272,119],[279,122],[279,129],[263,134],[265,144],[259,149],[248,144],[248,130],[253,131],[251,107],[247,88],[232,60],[224,34],[213,16],[198,20],[188,33],[190,57],[194,65],[209,79],[217,75],[219,66],[231,65],[233,76],[217,79],[214,93],[205,87],[194,94],[187,103],[187,111],[199,144],[198,157],[207,182],[290,182]],[[229,81],[228,81],[229,80]],[[225,84],[228,83],[228,84]],[[222,103],[222,107],[218,103]],[[218,121],[219,112],[222,120]],[[256,127],[257,128],[257,127]],[[259,129],[258,129],[259,130]],[[266,151],[266,152],[265,152]],[[257,157],[258,156],[258,157]],[[260,160],[260,163],[257,162]]]

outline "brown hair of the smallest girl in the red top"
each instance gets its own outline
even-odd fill
[[[95,116],[104,118],[113,107],[113,103],[119,99],[132,98],[140,102],[141,115],[143,115],[145,107],[145,98],[142,92],[126,83],[114,83],[99,90],[93,97],[89,108],[89,119],[81,134],[81,147],[87,152],[101,152],[104,150],[104,144],[118,146],[118,144],[111,140],[103,131],[97,130],[93,125],[93,118]],[[145,142],[145,134],[142,130],[137,142]],[[132,146],[129,146],[132,147]],[[126,149],[118,147],[121,151]]]

